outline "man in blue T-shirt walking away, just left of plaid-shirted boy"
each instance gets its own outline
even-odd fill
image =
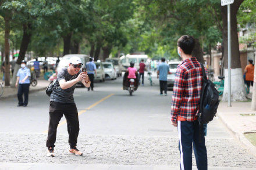
[[[160,95],[163,95],[163,91],[165,91],[165,96],[167,96],[167,75],[170,67],[165,63],[165,58],[162,58],[161,61],[162,63],[157,67],[157,78],[159,78]]]

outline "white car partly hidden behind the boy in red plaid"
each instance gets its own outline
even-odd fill
[[[182,62],[169,62],[168,65],[170,67],[170,74],[167,75],[167,89],[172,90],[175,82],[175,73],[177,70],[177,66]]]

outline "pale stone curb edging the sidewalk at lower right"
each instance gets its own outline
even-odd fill
[[[234,137],[239,140],[242,146],[244,146],[248,152],[250,152],[256,157],[256,147],[246,138],[246,136],[244,136],[244,134],[241,132],[234,131],[232,127],[229,124],[227,124],[227,122],[223,119],[221,113],[217,113],[217,115],[223,122],[223,124],[226,125],[227,129],[229,129],[229,131],[233,133]]]

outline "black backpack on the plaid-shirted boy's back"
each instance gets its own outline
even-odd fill
[[[207,79],[204,65],[202,63],[202,90],[200,95],[200,109],[198,114],[198,121],[200,125],[208,124],[212,121],[217,113],[219,106],[219,92],[213,82]]]

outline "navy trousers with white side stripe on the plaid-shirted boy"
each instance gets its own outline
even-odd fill
[[[207,169],[207,150],[205,147],[204,133],[199,136],[198,121],[178,121],[180,169],[192,169],[192,143],[197,162],[197,169]]]

